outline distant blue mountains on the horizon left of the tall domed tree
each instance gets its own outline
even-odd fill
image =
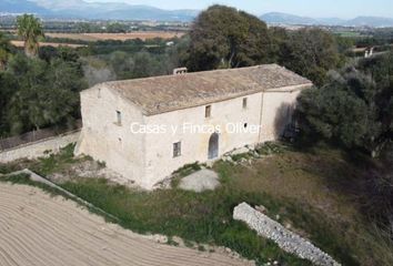
[[[98,3],[83,0],[0,0],[1,13],[36,13],[46,18],[190,21],[198,10],[162,10],[128,3]]]

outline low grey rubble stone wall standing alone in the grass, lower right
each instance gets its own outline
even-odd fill
[[[252,208],[246,203],[242,203],[234,208],[233,218],[246,223],[252,229],[256,231],[260,236],[274,241],[285,252],[309,259],[314,265],[340,265],[309,241],[288,231],[281,224]]]

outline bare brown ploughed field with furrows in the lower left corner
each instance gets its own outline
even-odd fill
[[[221,253],[154,242],[74,202],[0,183],[0,266],[246,265]]]

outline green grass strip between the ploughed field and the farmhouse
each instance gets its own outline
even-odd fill
[[[242,256],[263,264],[270,258],[284,265],[308,265],[282,252],[274,243],[259,237],[245,224],[232,219],[232,211],[241,202],[271,203],[262,194],[246,194],[222,187],[201,194],[180,190],[140,192],[104,180],[68,182],[64,188],[119,217],[120,224],[142,234],[180,236],[189,242],[230,247]]]

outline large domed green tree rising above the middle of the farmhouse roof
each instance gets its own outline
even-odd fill
[[[212,6],[203,11],[193,23],[190,38],[188,66],[193,71],[269,61],[266,24],[234,8]]]

